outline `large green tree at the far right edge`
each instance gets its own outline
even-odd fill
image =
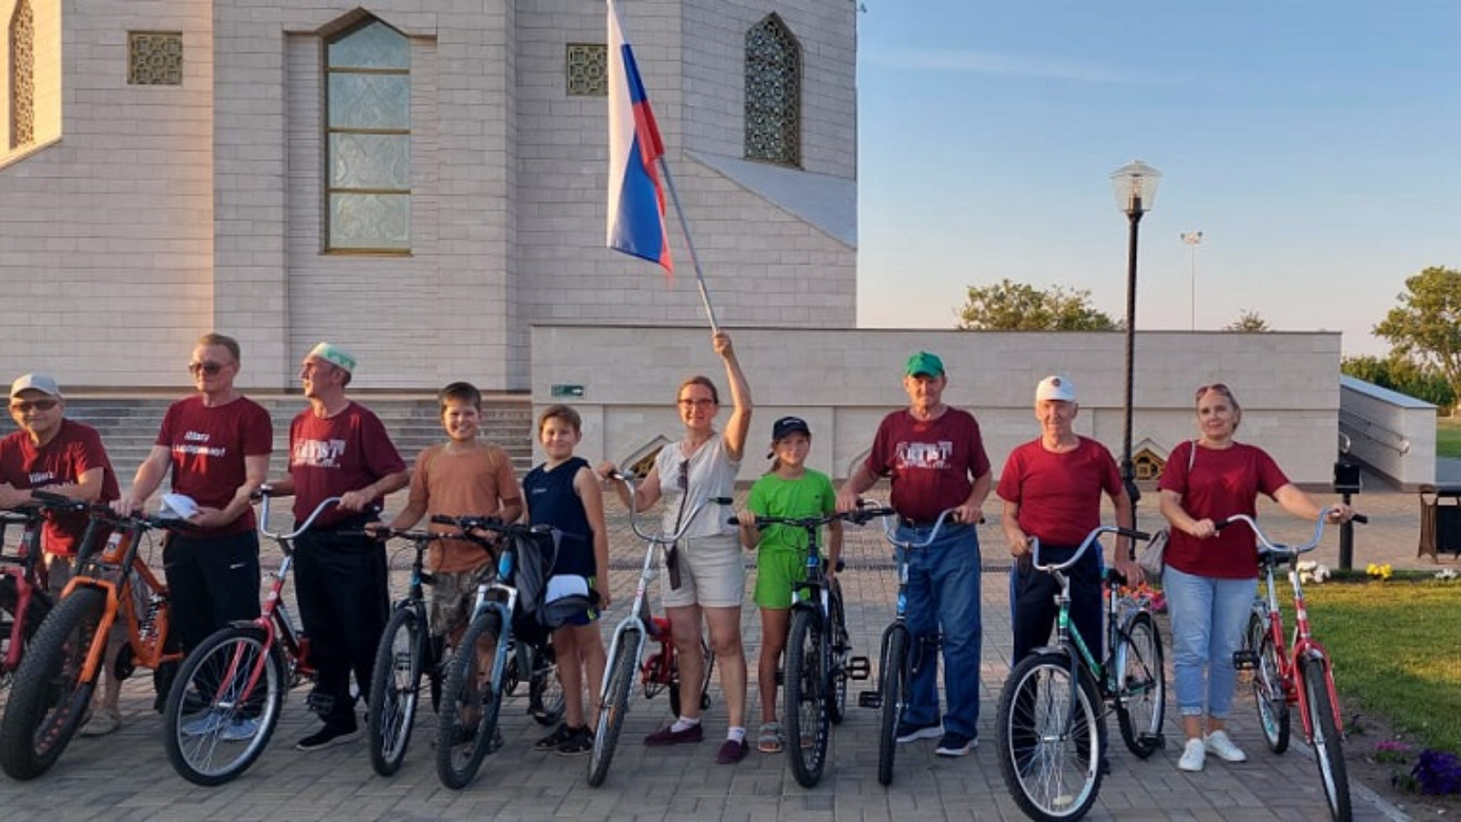
[[[1405,279],[1400,306],[1375,326],[1394,352],[1433,366],[1461,396],[1461,271],[1432,266]]]

